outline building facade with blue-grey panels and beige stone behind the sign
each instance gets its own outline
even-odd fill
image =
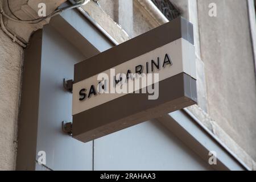
[[[46,14],[72,9],[39,22],[40,3]],[[253,0],[75,3],[1,1],[0,169],[255,170]],[[61,133],[61,121],[72,120],[72,94],[59,88],[74,64],[179,16],[193,23],[197,105],[88,143]]]

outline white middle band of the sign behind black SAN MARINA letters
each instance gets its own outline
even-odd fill
[[[138,47],[139,49],[139,47]],[[164,65],[164,60],[166,55],[170,56],[171,64]],[[115,59],[115,57],[113,57]],[[155,65],[154,71],[151,72],[151,60],[154,60],[155,63],[158,63],[158,59],[160,61],[160,68],[156,69]],[[106,60],[111,61],[111,60]],[[115,70],[115,75],[118,73],[127,74],[127,70],[130,70],[131,73],[135,73],[135,68],[138,65],[143,66],[143,73],[146,73],[146,69],[148,68],[148,73],[159,73],[159,81],[165,80],[166,78],[170,78],[172,76],[178,75],[179,73],[187,73],[187,75],[196,79],[196,56],[195,56],[195,47],[189,43],[187,40],[180,38],[175,40],[174,42],[168,43],[162,47],[156,48],[150,52],[144,53],[141,56],[135,57],[125,63],[119,64],[111,69]],[[100,67],[101,65],[95,65],[96,67]],[[106,73],[110,78],[110,69],[102,72]],[[77,82],[73,85],[73,109],[72,114],[78,114],[82,111],[91,109],[98,105],[104,104],[106,102],[112,101],[115,98],[122,97],[127,93],[102,93],[97,94],[96,96],[91,96],[90,98],[86,98],[85,100],[80,101],[79,92],[81,89],[86,89],[87,94],[91,85],[95,85],[97,89],[98,82],[97,80],[99,74],[94,75],[92,77],[86,78],[80,82]],[[118,79],[118,78],[117,78]],[[154,82],[153,82],[154,83]],[[152,84],[152,83],[151,83]],[[150,84],[149,84],[150,85]],[[141,85],[139,89],[144,88],[147,85]],[[175,85],[174,85],[175,86]]]

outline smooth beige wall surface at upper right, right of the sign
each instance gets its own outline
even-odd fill
[[[247,1],[197,2],[208,113],[256,160],[256,86]],[[208,15],[212,2],[217,17]]]

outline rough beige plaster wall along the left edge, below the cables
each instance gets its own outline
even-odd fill
[[[22,56],[0,28],[0,170],[15,169]]]

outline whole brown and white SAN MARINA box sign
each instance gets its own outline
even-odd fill
[[[88,142],[196,98],[193,26],[177,18],[75,65],[73,137]]]

